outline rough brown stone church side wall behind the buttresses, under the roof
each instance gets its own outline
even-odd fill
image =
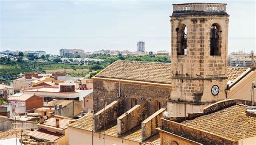
[[[147,115],[151,115],[156,110],[157,102],[160,102],[160,107],[166,107],[165,100],[170,97],[171,87],[160,85],[146,85],[120,82],[120,97],[124,98],[125,111],[131,108],[131,98],[137,99],[137,104],[141,104],[147,100]],[[93,80],[93,108],[98,112],[104,107],[105,103],[110,104],[118,99],[119,82]]]

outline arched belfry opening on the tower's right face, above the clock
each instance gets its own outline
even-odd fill
[[[214,23],[211,26],[211,51],[210,55],[221,55],[221,30],[220,26]]]

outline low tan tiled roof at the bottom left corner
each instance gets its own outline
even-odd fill
[[[16,136],[17,133],[17,136]],[[29,131],[24,131],[22,134],[29,134]],[[0,140],[5,140],[5,139],[11,139],[21,137],[21,129],[9,129],[8,131],[5,132],[0,132]]]

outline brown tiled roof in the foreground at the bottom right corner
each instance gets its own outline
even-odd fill
[[[187,120],[182,124],[232,141],[242,139],[242,135],[238,135],[241,132],[246,132],[246,138],[256,136],[256,118],[247,117],[245,107],[241,105],[234,105],[193,120]]]

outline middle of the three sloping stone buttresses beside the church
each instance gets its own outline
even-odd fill
[[[117,131],[121,135],[130,129],[138,126],[140,122],[147,118],[147,102],[135,105],[129,111],[117,118]]]

